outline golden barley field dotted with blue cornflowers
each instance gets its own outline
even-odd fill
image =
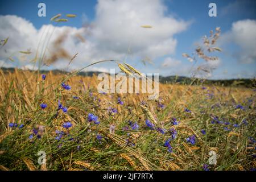
[[[148,100],[98,82],[0,70],[0,169],[255,169],[255,88],[159,84]]]

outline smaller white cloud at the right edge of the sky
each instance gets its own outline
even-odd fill
[[[221,44],[234,43],[240,50],[233,53],[240,63],[255,63],[256,61],[256,20],[239,20],[232,24],[229,32],[222,37]]]

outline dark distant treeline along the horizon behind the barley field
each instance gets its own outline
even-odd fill
[[[15,68],[0,68],[3,72],[14,72]],[[40,71],[40,73],[47,73],[49,71]],[[65,74],[67,72],[60,71],[59,69],[52,70],[53,74]],[[102,72],[79,72],[77,75],[80,76],[90,76],[98,75]],[[243,86],[247,88],[255,88],[256,81],[255,78],[242,78],[242,79],[229,79],[229,80],[202,80],[201,78],[191,78],[185,76],[159,76],[159,82],[162,84],[192,84],[193,85],[218,85],[218,86]]]

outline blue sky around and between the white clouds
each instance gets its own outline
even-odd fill
[[[44,2],[46,4],[46,17],[39,17],[38,14],[38,3]],[[109,0],[108,0],[109,2]],[[131,2],[131,1],[130,1]],[[127,6],[129,6],[129,1],[127,1]],[[217,5],[217,17],[209,17],[208,15],[208,5],[209,3],[214,2]],[[44,24],[49,24],[49,19],[56,14],[76,14],[77,17],[65,22],[65,24],[58,24],[56,26],[62,27],[62,26],[68,26],[68,27],[76,27],[76,28],[82,28],[84,23],[87,24],[94,24],[94,21],[100,22],[100,18],[98,16],[101,16],[101,6],[108,6],[108,4],[101,3],[102,5],[97,7],[97,1],[5,1],[1,2],[0,6],[0,15],[16,15],[18,17],[21,17],[23,19],[26,19],[28,22],[31,22],[33,26],[36,28],[36,30],[40,30]],[[109,2],[111,3],[111,2]],[[217,56],[220,57],[220,63],[218,64],[218,68],[213,71],[211,78],[237,78],[237,77],[255,77],[256,76],[256,60],[255,60],[255,54],[253,51],[246,51],[245,49],[247,47],[255,47],[256,43],[249,43],[246,40],[255,40],[255,36],[248,34],[247,36],[250,36],[249,38],[245,37],[243,38],[243,35],[240,39],[236,38],[236,30],[242,30],[243,28],[249,28],[255,27],[255,20],[256,20],[256,2],[255,1],[208,1],[208,0],[195,0],[195,1],[185,1],[185,0],[165,0],[165,1],[159,1],[161,7],[164,7],[164,17],[172,17],[177,22],[185,22],[184,26],[185,28],[181,28],[182,30],[175,30],[174,34],[170,34],[173,42],[170,44],[167,44],[167,46],[174,45],[174,49],[171,49],[171,53],[168,54],[158,54],[158,56],[153,56],[152,59],[154,61],[154,64],[149,64],[146,67],[142,64],[141,61],[139,61],[140,58],[138,58],[139,52],[137,56],[128,56],[127,62],[130,64],[136,65],[137,68],[147,71],[147,72],[156,72],[160,73],[160,75],[185,75],[189,76],[190,67],[192,67],[192,63],[190,63],[188,60],[186,60],[184,57],[181,56],[182,53],[186,52],[188,54],[191,54],[193,50],[196,48],[195,43],[200,42],[202,36],[209,35],[210,30],[214,30],[216,27],[221,27],[222,35],[224,36],[223,40],[220,40],[221,44],[220,47],[223,49],[221,53],[217,53]],[[115,6],[115,4],[112,4]],[[146,1],[144,6],[150,6],[151,1]],[[123,5],[124,7],[126,6]],[[136,3],[134,3],[134,7],[137,6]],[[138,5],[139,6],[139,5]],[[133,7],[133,6],[131,6]],[[118,6],[116,7],[118,9]],[[142,7],[143,8],[143,7]],[[98,15],[96,14],[96,11],[98,9]],[[103,10],[102,10],[103,11]],[[107,9],[104,10],[108,11]],[[114,9],[115,11],[115,9]],[[119,10],[118,10],[119,11]],[[138,12],[138,10],[137,10]],[[112,13],[114,14],[115,12]],[[125,14],[125,11],[123,12]],[[139,13],[139,12],[138,12]],[[157,10],[156,10],[157,14]],[[108,13],[107,13],[108,15]],[[161,16],[161,17],[162,17]],[[110,16],[113,17],[113,16]],[[136,18],[136,13],[135,16]],[[139,16],[138,16],[139,17]],[[102,17],[101,17],[102,18]],[[250,22],[246,20],[251,20]],[[106,20],[109,21],[111,24],[111,19]],[[234,26],[234,23],[237,23]],[[161,25],[161,24],[160,24]],[[0,26],[5,26],[4,22],[0,22]],[[11,26],[10,26],[11,27]],[[102,26],[103,27],[103,26]],[[101,28],[102,28],[101,27]],[[127,25],[129,27],[129,25]],[[164,26],[163,26],[164,27]],[[180,27],[183,27],[180,25]],[[104,27],[103,27],[104,28]],[[118,27],[117,27],[118,28]],[[154,28],[154,27],[153,27]],[[153,29],[152,28],[152,29]],[[170,27],[167,27],[167,29]],[[111,30],[111,29],[108,29]],[[249,31],[250,30],[245,30]],[[6,34],[6,32],[4,32]],[[121,30],[116,32],[116,34],[122,34]],[[125,35],[125,34],[124,34]],[[0,38],[4,39],[2,37],[3,35],[0,34]],[[96,38],[102,38],[102,36],[95,36],[93,38],[89,38],[93,41],[93,39]],[[243,43],[238,42],[238,40],[245,40]],[[96,40],[97,44],[103,44],[101,41],[105,41],[105,39]],[[108,40],[109,41],[109,40]],[[159,38],[159,41],[163,41],[163,38]],[[170,40],[171,41],[171,40]],[[136,42],[136,41],[135,41]],[[109,43],[109,42],[104,42]],[[127,46],[125,42],[120,42],[122,44]],[[248,45],[247,45],[248,43]],[[133,44],[131,41],[131,47],[137,47]],[[110,44],[111,45],[111,44]],[[122,46],[122,45],[121,45]],[[106,46],[100,46],[99,50],[105,50]],[[103,48],[102,48],[103,47]],[[141,47],[141,46],[138,46]],[[143,47],[146,49],[146,47]],[[142,49],[143,49],[142,48]],[[109,48],[110,51],[112,51],[112,48]],[[114,48],[113,48],[114,49]],[[3,50],[1,50],[3,51]],[[74,48],[75,51],[75,48]],[[115,51],[114,51],[115,52]],[[142,51],[144,52],[144,51]],[[117,51],[119,56],[125,55],[126,53],[123,51],[118,50]],[[101,52],[101,57],[104,57],[104,51]],[[247,54],[247,55],[246,55]],[[109,55],[110,56],[110,55]],[[115,53],[112,53],[111,56],[115,56]],[[0,58],[4,57],[4,54],[0,52]],[[93,57],[93,56],[92,56]],[[95,56],[94,56],[95,57]],[[93,58],[94,58],[93,57]],[[108,56],[107,56],[108,57]],[[118,57],[118,56],[117,56]],[[172,60],[170,63],[177,64],[174,66],[170,66],[168,68],[160,67],[160,65],[163,63],[164,59],[167,59],[167,57],[170,57]],[[241,60],[243,57],[248,58],[250,61],[243,61]],[[95,58],[96,59],[96,58]],[[113,57],[112,59],[115,59]],[[21,63],[18,63],[16,65],[22,65]],[[84,63],[86,65],[86,63]],[[80,67],[81,64],[77,65],[77,67]],[[109,65],[102,65],[101,67],[106,67],[109,69]],[[56,65],[51,66],[49,68],[58,68]]]

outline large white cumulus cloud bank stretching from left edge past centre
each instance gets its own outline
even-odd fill
[[[96,6],[96,16],[89,26],[76,28],[68,26],[54,27],[43,25],[37,30],[31,22],[15,15],[0,16],[0,38],[9,36],[5,51],[0,51],[0,59],[19,57],[18,51],[30,49],[28,60],[43,54],[48,45],[46,57],[59,61],[51,67],[63,69],[75,53],[79,53],[72,63],[72,68],[84,67],[86,64],[102,59],[125,59],[127,52],[134,59],[150,57],[156,59],[175,52],[177,40],[174,35],[187,29],[189,22],[177,20],[167,15],[163,1],[122,1],[99,0]],[[152,28],[142,28],[150,24]],[[54,30],[53,34],[51,32]],[[48,36],[46,36],[48,35]],[[48,37],[51,40],[48,43]],[[63,40],[56,46],[58,39]],[[40,44],[39,44],[40,43]],[[29,61],[23,65],[30,65]],[[22,61],[22,60],[20,60]],[[65,62],[64,62],[65,61]],[[51,61],[50,61],[51,62]],[[19,64],[20,65],[20,64]],[[108,67],[108,65],[106,66]],[[106,71],[100,67],[95,67]]]

